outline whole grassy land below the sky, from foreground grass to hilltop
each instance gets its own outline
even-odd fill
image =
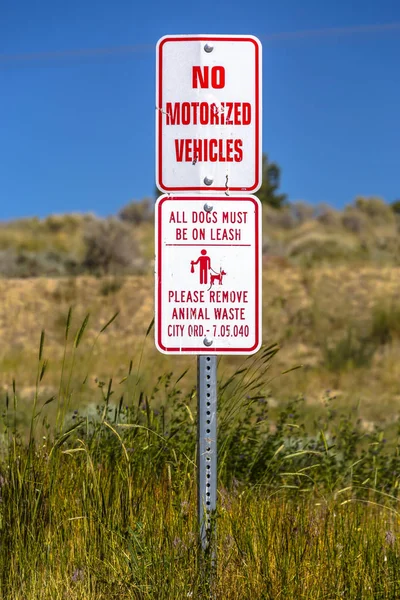
[[[399,596],[398,224],[373,205],[357,232],[264,211],[265,348],[218,361],[221,597]],[[49,219],[0,235],[25,269],[0,278],[3,596],[210,597],[196,358],[154,346],[152,221]]]

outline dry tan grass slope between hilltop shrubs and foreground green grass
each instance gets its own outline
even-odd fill
[[[50,357],[46,375],[48,391],[58,385],[64,348],[65,319],[73,307],[72,329],[89,313],[85,340],[75,367],[76,381],[95,365],[97,377],[117,379],[130,360],[141,384],[154,384],[156,374],[182,372],[189,368],[188,385],[195,383],[193,357],[160,355],[152,340],[144,341],[153,318],[153,278],[79,277],[70,279],[0,280],[0,385],[10,387],[15,378],[22,396],[29,398],[35,380],[40,331],[46,331]],[[369,363],[329,368],[326,347],[335,347],[346,338],[368,336],[374,311],[398,304],[400,268],[360,266],[286,266],[267,261],[263,273],[263,339],[278,342],[275,378],[266,384],[271,403],[299,394],[313,407],[323,402],[326,390],[333,390],[339,403],[359,406],[366,421],[390,421],[397,414],[400,391],[400,340],[394,336],[375,344]],[[103,334],[99,347],[93,343],[99,330],[119,311]],[[400,325],[399,325],[400,329]],[[358,339],[358,338],[357,338]],[[221,374],[237,368],[240,358],[222,357]],[[151,364],[151,373],[143,365]],[[281,371],[302,365],[302,369],[279,376]],[[190,376],[190,372],[192,376]],[[93,387],[96,387],[93,383]],[[379,401],[378,401],[379,399]]]

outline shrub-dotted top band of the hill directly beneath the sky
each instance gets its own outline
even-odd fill
[[[154,202],[131,202],[118,215],[52,215],[0,225],[0,276],[149,274]],[[400,264],[397,204],[357,198],[342,211],[304,202],[263,206],[263,255],[289,266]]]

